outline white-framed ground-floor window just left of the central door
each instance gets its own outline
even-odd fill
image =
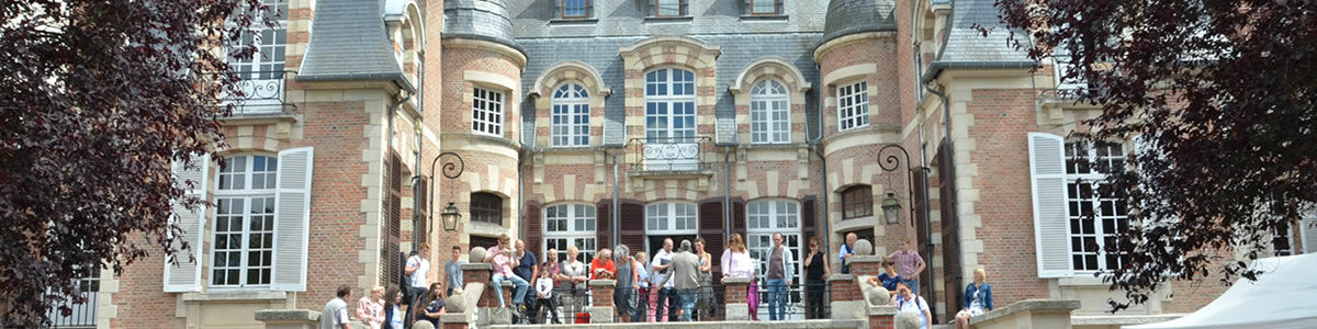
[[[568,246],[581,250],[581,262],[594,261],[594,205],[558,204],[544,209],[544,250],[557,249],[558,259],[568,259]]]

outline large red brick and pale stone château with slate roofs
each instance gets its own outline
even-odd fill
[[[261,328],[255,311],[320,309],[338,284],[398,286],[417,242],[437,280],[453,245],[499,234],[586,262],[695,237],[716,258],[734,233],[756,258],[773,233],[797,255],[810,237],[830,257],[847,233],[878,254],[913,240],[940,321],[977,267],[997,305],[1122,299],[1092,274],[1119,266],[1094,250],[1125,209],[1067,184],[1094,174],[1067,155],[1119,162],[1134,142],[1068,143],[1094,108],[1008,46],[992,0],[265,3],[287,14],[236,63],[254,96],[224,121],[227,166],[179,171],[216,203],[180,213],[195,262],[107,272],[96,326]],[[1121,315],[1221,291],[1176,282]]]

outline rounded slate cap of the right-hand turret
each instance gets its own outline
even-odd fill
[[[892,0],[832,0],[827,5],[827,22],[819,45],[847,34],[897,30]]]

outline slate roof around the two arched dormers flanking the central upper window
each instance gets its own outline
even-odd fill
[[[806,82],[814,82],[818,86],[819,74],[818,67],[814,63],[814,43],[822,37],[822,33],[776,33],[776,34],[703,34],[703,36],[686,36],[690,38],[699,39],[701,42],[716,45],[722,49],[722,54],[718,57],[718,70],[716,70],[716,101],[715,101],[715,118],[719,128],[726,129],[728,122],[735,122],[735,97],[727,91],[732,83],[735,83],[736,76],[745,70],[745,67],[763,58],[778,58],[794,64],[801,74],[805,75]],[[525,71],[522,72],[522,88],[531,89],[535,86],[535,79],[540,76],[545,68],[564,62],[564,61],[578,61],[586,63],[594,70],[597,70],[603,79],[603,84],[614,88],[614,95],[605,100],[605,122],[603,122],[603,138],[607,146],[622,146],[627,142],[628,136],[624,136],[623,124],[626,121],[626,113],[623,107],[626,99],[623,96],[622,88],[624,87],[624,67],[622,57],[618,55],[618,49],[630,46],[639,41],[647,39],[649,36],[632,36],[632,37],[576,37],[576,38],[520,38],[522,43],[528,54],[528,62]],[[564,49],[570,49],[572,51],[562,51]],[[810,89],[806,92],[806,121],[809,124],[810,138],[818,134],[818,91]],[[535,124],[535,104],[531,97],[524,97],[522,100],[522,121],[523,126],[532,126]],[[715,128],[716,129],[716,128]],[[533,146],[535,137],[531,129],[523,129],[522,143],[527,146]],[[633,136],[632,136],[633,137]]]

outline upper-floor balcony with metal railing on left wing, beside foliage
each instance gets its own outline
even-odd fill
[[[245,71],[238,72],[238,95],[225,97],[225,104],[233,105],[232,117],[283,114],[294,108],[284,99],[287,82],[294,71]]]

